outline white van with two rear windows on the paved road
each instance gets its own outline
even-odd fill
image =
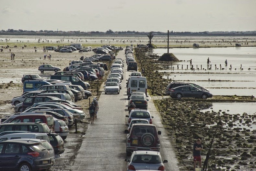
[[[147,95],[147,79],[143,76],[131,76],[129,78],[127,95],[130,98],[132,92],[144,92]]]

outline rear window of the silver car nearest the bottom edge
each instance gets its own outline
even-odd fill
[[[133,163],[160,164],[161,158],[158,155],[134,155]]]

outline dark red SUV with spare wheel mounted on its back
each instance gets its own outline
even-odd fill
[[[126,137],[126,154],[137,150],[160,151],[161,131],[153,124],[134,123],[131,131],[125,130]]]

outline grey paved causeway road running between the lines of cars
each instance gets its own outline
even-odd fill
[[[124,51],[119,52],[117,58],[122,58],[125,61]],[[94,121],[94,124],[88,126],[85,139],[70,170],[125,171],[127,169],[128,163],[124,161],[127,158],[126,134],[124,133],[127,118],[125,115],[128,115],[125,80],[128,79],[131,72],[127,71],[126,65],[123,71],[124,79],[120,94],[105,95],[103,92],[100,95],[98,118]],[[151,97],[148,98],[148,109],[154,116],[153,123],[157,125],[158,131],[162,131],[162,135],[160,135],[160,153],[163,160],[168,160],[168,163],[165,164],[166,171],[178,171],[178,161],[170,139],[163,128]]]

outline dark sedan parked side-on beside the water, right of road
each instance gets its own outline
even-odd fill
[[[183,85],[171,89],[170,97],[181,98],[181,97],[193,97],[193,98],[203,98],[213,97],[208,91],[200,90],[192,85]]]

